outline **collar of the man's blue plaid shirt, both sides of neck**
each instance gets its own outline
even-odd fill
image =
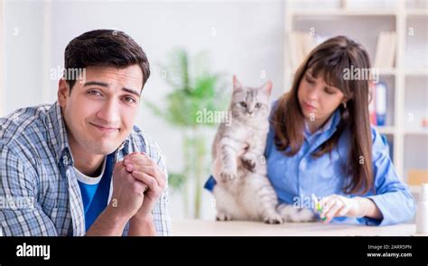
[[[48,135],[50,142],[53,146],[56,162],[59,162],[62,158],[64,166],[74,165],[73,158],[71,156],[71,149],[69,146],[69,138],[67,136],[67,129],[65,127],[64,119],[60,109],[60,103],[55,101],[48,110],[48,121],[47,121]],[[129,136],[125,139],[120,147],[116,151],[124,149],[127,153],[129,148]]]

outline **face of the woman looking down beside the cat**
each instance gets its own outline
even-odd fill
[[[315,79],[311,70],[304,73],[297,97],[305,119],[319,122],[329,119],[345,99],[344,94],[338,88],[326,84],[321,75]]]

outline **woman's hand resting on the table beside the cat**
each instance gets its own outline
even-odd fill
[[[321,199],[321,218],[326,217],[323,223],[330,223],[334,217],[364,217],[381,218],[377,206],[373,201],[364,197],[345,197],[343,195],[329,195]]]

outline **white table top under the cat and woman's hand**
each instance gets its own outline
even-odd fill
[[[179,220],[172,222],[173,235],[181,236],[422,236],[416,233],[414,223],[403,223],[390,226],[364,226],[349,224],[322,223],[283,223],[265,224],[256,222],[218,222],[209,220]]]

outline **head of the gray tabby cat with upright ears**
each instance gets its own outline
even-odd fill
[[[237,76],[233,76],[233,95],[230,105],[232,117],[247,121],[267,119],[270,112],[270,96],[272,81],[267,81],[261,87],[244,87]]]

